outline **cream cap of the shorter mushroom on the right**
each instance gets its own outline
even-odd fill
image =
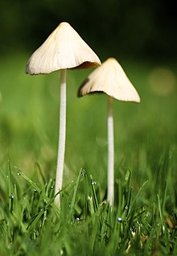
[[[80,86],[78,97],[89,93],[103,92],[119,101],[140,102],[140,97],[126,76],[123,68],[114,58],[109,58],[91,72]]]

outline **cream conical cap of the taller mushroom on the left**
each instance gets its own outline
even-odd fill
[[[101,61],[80,35],[68,24],[60,23],[55,31],[28,60],[26,72],[46,74],[65,68],[92,68]]]

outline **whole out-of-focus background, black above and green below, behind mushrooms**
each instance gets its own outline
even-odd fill
[[[142,99],[141,104],[114,101],[115,167],[123,161],[138,173],[150,159],[153,168],[166,148],[169,157],[176,157],[177,19],[172,2],[8,0],[0,5],[2,166],[10,159],[12,165],[33,171],[37,162],[47,175],[55,175],[60,72],[29,76],[25,66],[62,21],[101,61],[117,58]],[[104,184],[107,97],[76,97],[89,72],[68,71],[65,182],[84,167]]]

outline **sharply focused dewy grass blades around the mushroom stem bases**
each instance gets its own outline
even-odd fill
[[[113,208],[101,184],[81,169],[60,192],[61,210],[53,203],[54,180],[41,171],[30,179],[9,164],[0,173],[1,255],[175,255],[173,164],[164,153],[156,178],[145,173],[142,183],[121,163]]]

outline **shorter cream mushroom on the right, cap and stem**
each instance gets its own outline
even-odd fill
[[[113,98],[119,101],[140,102],[140,97],[121,65],[114,58],[105,60],[91,72],[80,86],[78,97],[89,93],[106,93],[108,97],[108,195],[110,205],[114,200],[114,142],[113,142]]]

